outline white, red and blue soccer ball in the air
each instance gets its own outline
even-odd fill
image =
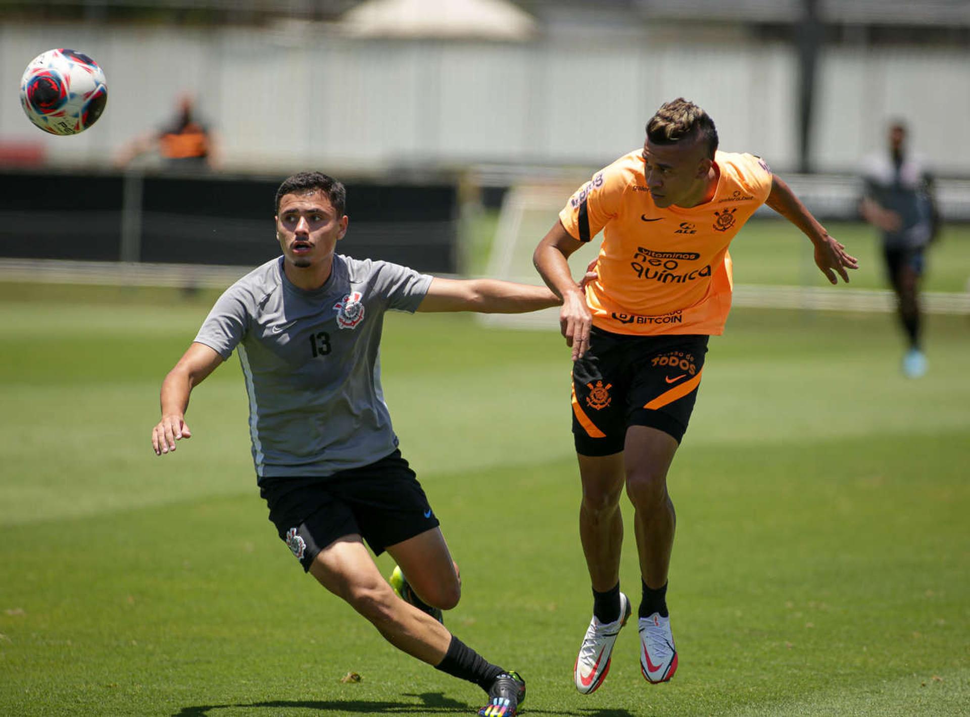
[[[51,135],[77,135],[98,121],[108,85],[98,63],[74,49],[49,49],[27,65],[20,105],[31,122]]]

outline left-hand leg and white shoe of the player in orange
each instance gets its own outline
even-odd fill
[[[623,545],[623,453],[577,455],[583,483],[579,535],[593,585],[593,618],[573,666],[576,689],[596,692],[609,672],[620,630],[630,618],[630,601],[620,592],[620,548]]]

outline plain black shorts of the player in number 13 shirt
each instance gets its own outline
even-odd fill
[[[361,535],[379,555],[439,524],[400,451],[326,478],[264,478],[259,494],[305,571],[321,549],[345,535]]]

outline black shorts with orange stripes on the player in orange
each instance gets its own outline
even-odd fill
[[[630,425],[680,443],[691,421],[708,336],[628,336],[593,327],[572,366],[572,435],[581,455],[623,451]]]

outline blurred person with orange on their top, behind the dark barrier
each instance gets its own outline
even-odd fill
[[[218,139],[199,119],[195,99],[189,93],[178,97],[176,115],[168,125],[126,144],[118,153],[115,165],[127,167],[152,151],[157,152],[169,169],[216,170],[220,166]]]

